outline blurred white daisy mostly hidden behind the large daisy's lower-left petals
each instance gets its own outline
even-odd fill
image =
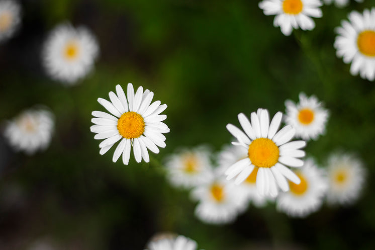
[[[229,166],[233,165],[241,159],[249,157],[248,151],[244,147],[239,147],[235,145],[226,145],[223,150],[218,154],[218,164],[220,173],[225,173]],[[258,173],[258,168],[254,168],[254,171],[246,178],[246,180],[239,185],[243,188],[243,192],[247,195],[247,198],[256,206],[263,207],[267,204],[269,197],[259,195],[256,190],[256,174]]]

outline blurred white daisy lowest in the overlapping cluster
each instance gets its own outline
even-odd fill
[[[195,188],[192,198],[199,201],[195,209],[196,216],[210,224],[233,222],[248,204],[245,193],[233,182],[222,178],[215,178]]]

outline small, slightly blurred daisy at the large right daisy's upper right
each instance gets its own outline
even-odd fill
[[[285,122],[296,129],[296,137],[303,140],[316,140],[326,129],[329,113],[315,96],[307,97],[300,93],[300,102],[285,102]]]

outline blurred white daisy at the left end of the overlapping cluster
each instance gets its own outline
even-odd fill
[[[175,187],[192,188],[213,178],[211,150],[206,146],[181,149],[166,157],[167,178]]]

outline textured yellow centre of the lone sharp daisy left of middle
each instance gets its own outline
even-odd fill
[[[126,112],[119,118],[117,129],[124,138],[138,138],[145,131],[145,122],[140,114],[132,111]]]

